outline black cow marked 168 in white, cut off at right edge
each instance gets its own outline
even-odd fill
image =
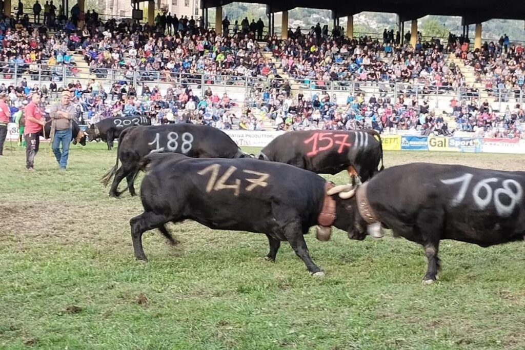
[[[426,284],[437,279],[439,241],[481,247],[525,236],[525,172],[413,163],[387,168],[355,192],[350,238],[381,222],[425,248]]]

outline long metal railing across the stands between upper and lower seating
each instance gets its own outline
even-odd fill
[[[182,73],[159,70],[112,69],[103,67],[77,67],[69,65],[28,65],[27,63],[0,62],[0,81],[15,86],[26,78],[29,86],[42,86],[54,81],[58,87],[66,87],[69,83],[80,81],[86,86],[92,79],[100,82],[106,92],[113,84],[125,83],[138,86],[158,86],[167,89],[174,85],[191,86],[197,92],[207,87],[221,87],[226,90],[239,91],[249,94],[251,89],[281,88],[285,83],[290,84],[292,90],[310,91],[311,93],[328,92],[330,94],[372,94],[376,97],[389,97],[394,102],[403,95],[405,99],[427,97],[430,103],[444,103],[443,98],[458,100],[489,98],[493,103],[499,103],[501,110],[503,103],[520,103],[524,101],[524,89],[473,90],[468,87],[439,87],[424,83],[405,83],[391,81],[358,81],[358,80],[320,80],[309,77],[269,78],[265,76],[251,77],[241,75],[216,75],[207,72]]]

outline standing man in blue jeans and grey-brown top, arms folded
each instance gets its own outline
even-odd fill
[[[62,91],[60,102],[51,106],[49,111],[49,116],[53,121],[51,122],[51,142],[53,143],[51,148],[55,153],[61,171],[65,171],[67,167],[69,144],[72,139],[71,128],[76,115],[77,109],[71,103],[71,92]],[[61,152],[60,143],[62,144]]]

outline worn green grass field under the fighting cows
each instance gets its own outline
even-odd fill
[[[140,198],[110,199],[98,182],[115,151],[74,146],[59,173],[43,144],[34,174],[22,150],[4,154],[1,349],[525,348],[522,243],[444,241],[440,279],[423,285],[423,249],[404,239],[310,234],[327,273],[313,278],[287,244],[270,263],[264,235],[184,222],[168,226],[175,248],[147,232],[141,263],[129,228]],[[385,152],[386,166],[414,161],[525,166],[523,156]]]

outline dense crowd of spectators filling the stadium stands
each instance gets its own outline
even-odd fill
[[[348,38],[340,27],[329,33],[328,26],[317,24],[304,33],[299,27],[290,29],[289,39],[282,40],[263,36],[260,18],[251,23],[245,18],[240,25],[232,25],[225,18],[224,34],[216,35],[213,29],[204,28],[201,19],[193,17],[159,14],[155,25],[149,26],[131,20],[102,22],[96,12],[84,15],[76,9],[67,18],[61,8],[57,16],[49,12],[44,16],[47,27],[54,30],[50,35],[46,26],[31,24],[23,13],[17,17],[0,15],[0,61],[5,62],[0,72],[4,78],[19,75],[19,81],[27,72],[33,80],[40,76],[51,82],[49,89],[43,86],[42,90],[27,87],[26,80],[17,87],[4,87],[13,97],[14,107],[35,90],[53,98],[63,86],[64,75],[74,77],[78,72],[70,55],[74,51],[83,55],[96,78],[86,87],[77,81],[65,89],[74,94],[79,112],[90,122],[109,116],[150,114],[158,123],[192,121],[223,129],[237,124],[240,129],[263,130],[264,122],[272,121],[279,130],[372,127],[381,132],[413,130],[449,135],[465,131],[521,136],[524,113],[519,105],[492,111],[488,102],[479,103],[479,95],[470,98],[467,93],[451,102],[447,115],[436,115],[428,100],[428,94],[436,91],[476,91],[466,86],[459,67],[447,63],[449,52],[474,67],[476,81],[484,83],[487,91],[504,87],[519,95],[524,84],[525,53],[521,46],[510,45],[507,36],[472,51],[464,38],[451,35],[444,45],[437,39],[424,41],[419,33],[412,48],[406,43],[409,33],[403,44],[400,33],[393,30],[385,29],[382,39]],[[265,52],[271,52],[271,58]],[[102,81],[110,69],[119,81],[104,89]],[[233,85],[244,84],[246,77],[276,79],[269,80],[269,87],[254,89],[242,106],[227,94],[218,96],[211,90],[200,96],[202,81],[213,84],[226,76],[226,83]],[[290,81],[313,89],[311,96],[292,94]],[[156,82],[170,83],[171,87],[161,91]],[[393,95],[386,91],[394,83],[404,83],[404,88],[392,100]],[[198,92],[192,91],[191,84],[198,86]],[[338,101],[328,92],[330,84],[352,92],[346,101]],[[379,86],[380,93],[365,95],[361,88],[369,84]],[[419,96],[413,94],[415,84]],[[451,128],[447,124],[450,120],[455,120]]]

